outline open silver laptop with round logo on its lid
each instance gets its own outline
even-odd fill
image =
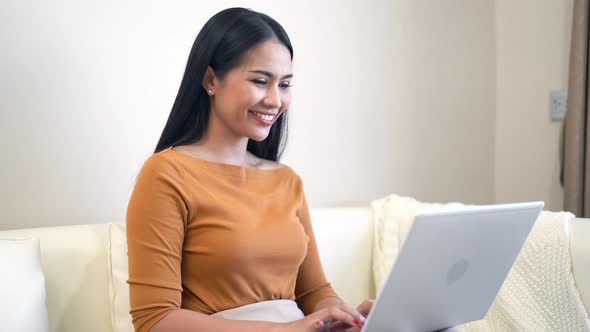
[[[430,332],[483,319],[543,202],[416,215],[363,332]]]

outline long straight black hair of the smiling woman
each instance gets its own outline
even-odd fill
[[[283,27],[268,15],[246,8],[229,8],[205,23],[191,49],[178,95],[155,152],[170,146],[192,144],[203,137],[209,121],[209,95],[201,83],[208,66],[220,79],[240,64],[257,45],[277,39],[293,59],[293,47]],[[287,112],[273,124],[268,137],[248,140],[248,151],[259,158],[278,161],[287,136]]]

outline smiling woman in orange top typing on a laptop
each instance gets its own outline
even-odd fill
[[[372,301],[324,276],[300,177],[278,162],[293,48],[267,15],[231,8],[192,47],[127,211],[136,331],[359,330]]]

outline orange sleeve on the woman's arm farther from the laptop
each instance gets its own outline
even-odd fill
[[[135,331],[180,308],[188,208],[181,169],[159,155],[144,164],[127,208],[129,295]]]

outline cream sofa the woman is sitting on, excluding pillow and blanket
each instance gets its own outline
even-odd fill
[[[324,269],[341,297],[351,304],[374,297],[369,208],[312,209],[311,216]],[[49,331],[132,331],[124,224],[0,231],[0,239],[27,237],[40,239]],[[570,250],[590,308],[590,219],[571,222]]]

